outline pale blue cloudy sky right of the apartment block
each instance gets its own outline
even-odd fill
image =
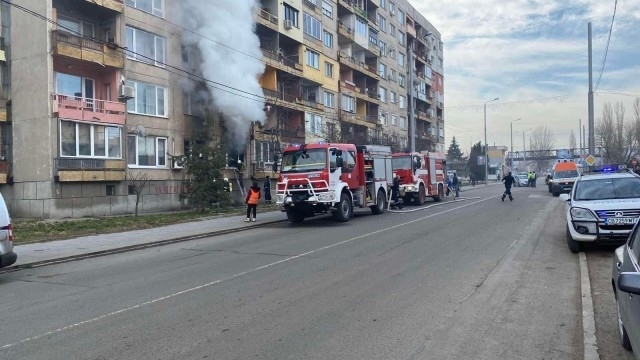
[[[588,23],[592,24],[594,119],[621,102],[631,121],[640,97],[640,0],[621,0],[600,69],[615,0],[409,0],[444,42],[445,147],[465,153],[487,142],[528,148],[532,131],[547,126],[555,148],[579,145],[580,119],[588,139]],[[598,83],[598,78],[600,81]],[[597,85],[597,87],[596,87]],[[520,119],[520,120],[518,120]],[[586,146],[585,146],[586,147]]]

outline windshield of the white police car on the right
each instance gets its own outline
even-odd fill
[[[611,178],[582,180],[576,184],[574,200],[640,198],[640,179]]]

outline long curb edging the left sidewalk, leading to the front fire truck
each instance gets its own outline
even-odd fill
[[[26,269],[35,269],[35,268],[39,268],[39,267],[43,267],[43,266],[62,264],[62,263],[78,261],[78,260],[91,259],[91,258],[95,258],[95,257],[107,256],[107,255],[124,253],[124,252],[129,252],[129,251],[142,250],[142,249],[147,249],[147,248],[151,248],[151,247],[169,245],[169,244],[174,244],[174,243],[179,243],[179,242],[198,240],[198,239],[202,239],[202,238],[206,238],[206,237],[233,234],[233,233],[238,233],[238,232],[242,232],[242,231],[246,231],[246,230],[253,230],[253,229],[256,229],[256,228],[261,228],[261,227],[264,227],[266,225],[278,224],[278,223],[282,223],[282,222],[286,222],[286,221],[288,221],[288,220],[287,219],[271,220],[271,221],[261,222],[260,224],[245,225],[245,226],[242,226],[242,227],[236,227],[236,228],[218,230],[218,231],[210,231],[210,232],[206,232],[206,233],[202,233],[202,234],[183,236],[183,237],[178,237],[178,238],[173,238],[173,239],[152,241],[152,242],[148,242],[148,243],[144,243],[144,244],[123,246],[123,247],[113,248],[113,249],[109,249],[109,250],[93,251],[93,252],[88,252],[88,253],[84,253],[84,254],[65,256],[65,257],[56,258],[56,259],[50,259],[50,260],[35,261],[35,262],[31,262],[31,263],[26,263],[26,264],[20,264],[20,265],[14,265],[14,266],[6,267],[6,268],[0,270],[0,274],[8,273],[8,272],[14,272],[14,271],[20,271],[20,270],[26,270]]]

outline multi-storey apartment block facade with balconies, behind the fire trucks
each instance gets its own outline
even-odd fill
[[[203,111],[202,81],[185,86],[202,55],[185,46],[178,4],[3,3],[0,191],[14,217],[131,213],[141,177],[142,212],[185,205],[177,159],[205,119],[220,141],[227,129]],[[255,35],[265,120],[227,176],[273,175],[282,149],[304,142],[444,151],[442,42],[406,0],[260,0]]]

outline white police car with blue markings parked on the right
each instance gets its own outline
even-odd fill
[[[623,166],[580,175],[566,201],[566,236],[571,252],[585,242],[624,243],[640,218],[640,176]]]

